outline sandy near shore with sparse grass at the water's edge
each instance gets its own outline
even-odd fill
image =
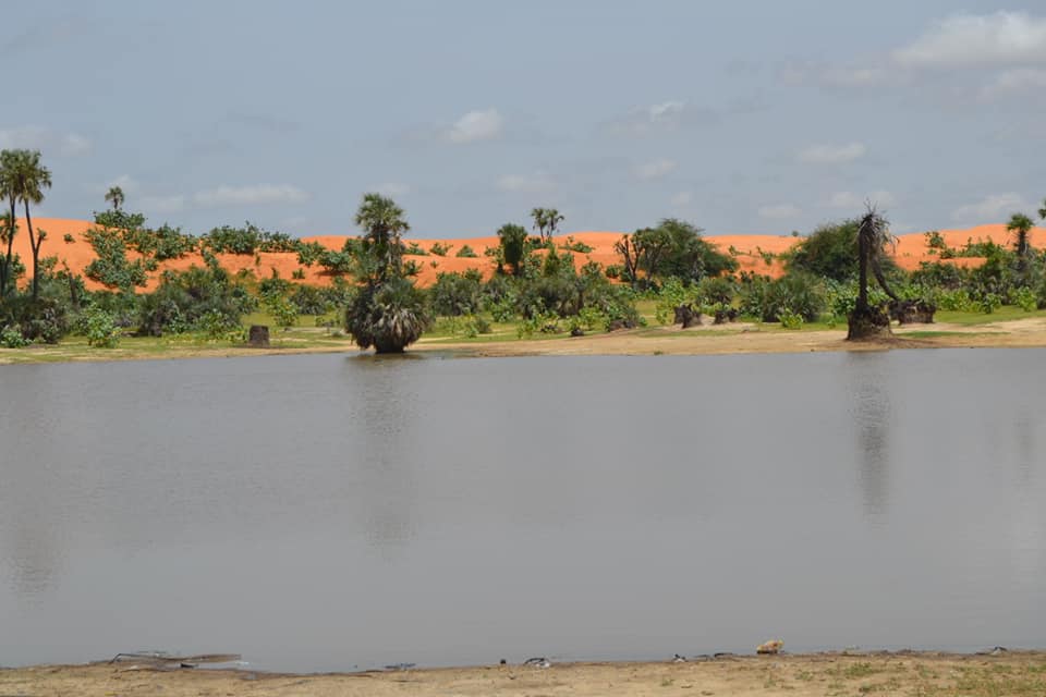
[[[818,653],[685,663],[491,665],[285,674],[130,665],[0,670],[0,695],[1046,695],[1046,652]]]

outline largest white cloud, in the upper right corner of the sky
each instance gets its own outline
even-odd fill
[[[951,68],[1046,62],[1046,19],[1025,12],[961,13],[893,51],[901,65]]]

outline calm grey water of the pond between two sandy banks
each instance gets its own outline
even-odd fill
[[[1046,646],[1046,351],[0,366],[0,663]]]

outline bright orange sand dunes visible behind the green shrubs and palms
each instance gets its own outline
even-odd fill
[[[60,218],[39,218],[34,219],[34,229],[47,232],[47,240],[41,248],[41,256],[58,256],[59,268],[63,264],[68,265],[74,273],[83,273],[84,269],[95,258],[94,250],[84,240],[84,233],[93,227],[93,223],[86,220],[65,220]],[[70,235],[72,242],[65,241],[65,235]],[[574,265],[581,268],[588,261],[595,261],[604,267],[621,264],[621,257],[613,249],[615,243],[621,239],[620,232],[606,231],[581,231],[572,232],[556,237],[557,246],[568,244],[568,237],[573,242],[580,242],[593,247],[589,253],[573,253]],[[992,240],[998,244],[1011,244],[1012,237],[1004,224],[980,225],[965,230],[941,230],[940,235],[950,247],[962,248],[968,241]],[[345,243],[345,235],[316,235],[303,237],[305,242],[318,242],[330,249],[340,249]],[[718,246],[719,250],[732,255],[740,265],[740,270],[755,272],[770,277],[779,277],[784,272],[783,264],[778,258],[783,252],[789,250],[802,237],[790,235],[710,235],[706,240]],[[1031,235],[1032,245],[1036,247],[1046,247],[1046,229],[1035,228]],[[470,239],[443,239],[443,240],[411,240],[417,245],[430,250],[437,242],[449,247],[446,256],[411,255],[408,259],[415,261],[421,266],[418,283],[423,286],[430,285],[436,281],[437,274],[441,272],[461,272],[467,269],[478,269],[485,278],[494,273],[494,264],[491,259],[484,255],[488,247],[498,245],[497,236],[470,237]],[[469,245],[476,257],[458,257],[458,252]],[[32,252],[29,249],[29,239],[25,229],[24,219],[19,219],[19,234],[15,237],[14,250],[21,255],[26,266],[31,265]],[[893,247],[892,254],[898,262],[904,269],[917,269],[922,261],[935,261],[938,259],[936,254],[931,254],[926,246],[925,233],[911,233],[900,235]],[[129,254],[134,257],[133,254]],[[304,278],[297,282],[330,285],[333,277],[327,274],[319,267],[304,267],[297,262],[297,255],[293,253],[260,253],[258,255],[232,255],[222,254],[218,257],[224,268],[230,272],[236,273],[243,270],[253,272],[258,279],[268,278],[273,273],[283,279],[291,279],[295,271],[301,271]],[[160,264],[159,269],[150,274],[146,290],[156,286],[159,273],[165,269],[184,270],[191,266],[203,266],[203,257],[199,254],[191,254],[181,259],[173,259]],[[957,258],[948,261],[956,266],[969,267],[981,262],[976,258]],[[90,290],[101,289],[101,284],[94,281],[86,281]]]

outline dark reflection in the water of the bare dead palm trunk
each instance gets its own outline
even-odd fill
[[[858,435],[858,482],[866,515],[879,517],[890,503],[890,396],[884,355],[848,354],[846,379],[852,399],[850,414]]]

